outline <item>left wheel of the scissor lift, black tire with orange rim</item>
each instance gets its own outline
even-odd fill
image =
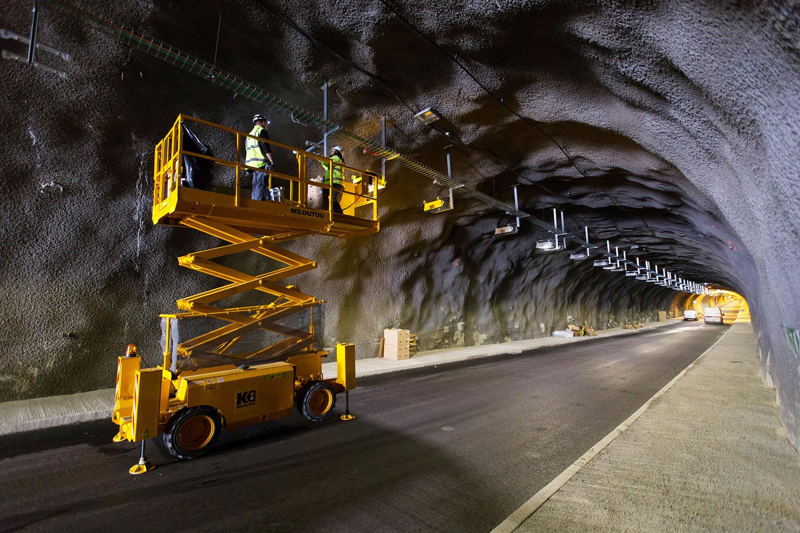
[[[195,427],[200,430],[196,439],[193,438],[197,434]],[[186,432],[192,435],[187,436]],[[209,432],[210,435],[207,434]],[[164,445],[178,459],[194,459],[206,453],[221,432],[222,419],[216,409],[208,405],[182,408],[166,423]]]

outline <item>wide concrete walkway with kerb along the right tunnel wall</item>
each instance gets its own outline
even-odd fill
[[[495,531],[800,531],[800,464],[750,317]]]

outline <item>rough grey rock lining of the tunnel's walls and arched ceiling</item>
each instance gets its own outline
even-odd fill
[[[377,139],[378,117],[388,114],[390,145],[401,151],[444,169],[442,147],[454,144],[454,175],[470,185],[512,201],[518,183],[530,213],[564,209],[567,225],[589,225],[597,245],[610,239],[631,258],[746,296],[763,375],[796,444],[800,375],[781,330],[800,327],[794,4],[398,4],[442,50],[382,2],[80,6],[203,58],[216,54],[222,68],[314,113],[318,87],[331,80],[334,122]],[[21,5],[0,14],[18,33],[29,22]],[[40,36],[76,61],[64,65],[68,81],[2,62],[0,400],[110,386],[114,357],[131,341],[157,362],[155,316],[215,286],[174,258],[217,243],[151,225],[152,148],[178,113],[250,129],[249,117],[266,111],[56,6],[46,6]],[[448,54],[541,130],[498,105]],[[435,129],[413,118],[429,105],[443,117]],[[267,114],[276,140],[319,137]],[[378,168],[353,145],[346,161]],[[278,157],[278,169],[290,165]],[[327,301],[326,344],[349,340],[358,356],[374,356],[390,326],[418,332],[423,349],[481,344],[549,335],[570,320],[597,328],[652,320],[674,304],[674,292],[534,252],[547,235],[524,222],[515,236],[494,237],[510,218],[458,193],[456,209],[426,215],[422,201],[446,191],[396,162],[388,168],[381,233],[288,245],[318,261],[293,281]]]

